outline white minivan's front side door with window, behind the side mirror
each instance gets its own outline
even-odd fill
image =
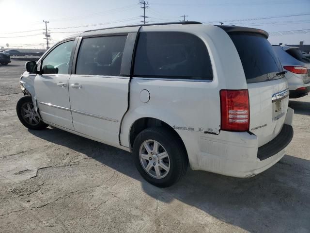
[[[40,114],[47,123],[74,130],[69,102],[70,58],[75,41],[53,49],[41,62],[41,73],[34,79]]]

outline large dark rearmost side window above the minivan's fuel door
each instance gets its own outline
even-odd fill
[[[212,80],[210,56],[200,38],[189,33],[140,33],[134,76]]]

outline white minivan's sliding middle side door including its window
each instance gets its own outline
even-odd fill
[[[126,38],[83,38],[69,82],[75,131],[116,146],[128,107],[129,77],[120,75]]]

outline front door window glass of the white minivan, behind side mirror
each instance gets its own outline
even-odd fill
[[[48,53],[42,62],[42,73],[68,74],[73,45],[73,40],[64,42]]]

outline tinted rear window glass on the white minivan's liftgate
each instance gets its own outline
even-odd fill
[[[247,83],[259,83],[283,78],[281,63],[272,45],[261,34],[229,33],[246,75]]]

